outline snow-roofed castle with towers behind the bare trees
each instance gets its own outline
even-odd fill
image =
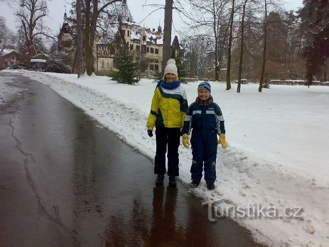
[[[135,52],[136,56],[143,57],[143,70],[151,73],[154,71],[160,71],[162,66],[162,47],[163,47],[163,32],[162,27],[159,25],[157,29],[144,28],[137,25],[127,5],[127,1],[123,0],[120,6],[120,24],[121,24],[121,36],[124,36],[124,40],[127,48],[131,52]],[[118,38],[118,30],[116,30],[116,37]],[[72,35],[70,33],[70,27],[67,21],[66,11],[64,14],[64,22],[59,33],[59,50],[71,52],[72,51]],[[105,74],[108,70],[115,67],[114,57],[115,50],[114,45],[119,39],[114,39],[111,42],[103,41],[102,38],[98,38],[95,41],[94,57],[95,57],[95,73],[98,75]],[[179,45],[178,38],[175,37],[172,49],[175,51],[176,56],[184,55],[184,48]],[[72,54],[71,54],[72,55]],[[74,56],[74,54],[73,54]],[[72,66],[72,65],[71,65]]]

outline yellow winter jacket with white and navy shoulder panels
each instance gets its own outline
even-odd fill
[[[179,85],[176,89],[168,90],[158,86],[153,95],[147,127],[181,128],[184,126],[187,110],[184,87]]]

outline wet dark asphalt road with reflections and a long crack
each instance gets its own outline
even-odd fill
[[[0,246],[260,246],[49,87],[0,105]]]

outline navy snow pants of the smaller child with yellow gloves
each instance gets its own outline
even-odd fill
[[[215,131],[192,130],[191,145],[193,155],[192,180],[200,181],[204,168],[207,184],[213,184],[216,180],[217,133]]]

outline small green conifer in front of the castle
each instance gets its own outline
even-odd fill
[[[125,47],[120,48],[119,55],[114,59],[114,62],[118,71],[113,74],[113,80],[124,84],[138,83],[138,63],[129,50]]]

